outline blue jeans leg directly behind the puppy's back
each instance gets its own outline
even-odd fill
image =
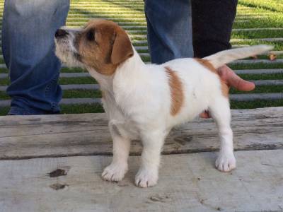
[[[145,0],[151,62],[193,57],[190,0]]]

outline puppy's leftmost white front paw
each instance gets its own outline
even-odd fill
[[[102,173],[102,178],[108,181],[121,181],[127,172],[127,165],[110,164],[105,167]]]

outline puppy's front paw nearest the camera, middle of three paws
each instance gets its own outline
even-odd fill
[[[158,170],[140,169],[137,172],[135,183],[137,187],[146,188],[153,187],[158,181]]]

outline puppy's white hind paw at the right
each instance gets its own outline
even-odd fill
[[[236,168],[236,159],[233,153],[221,153],[215,161],[215,166],[221,172],[229,172]]]

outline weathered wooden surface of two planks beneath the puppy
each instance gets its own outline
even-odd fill
[[[283,107],[232,114],[236,170],[214,168],[216,153],[204,151],[219,148],[216,126],[200,119],[168,136],[171,155],[149,189],[134,186],[138,156],[122,182],[100,178],[112,158],[105,114],[0,117],[0,212],[283,211]],[[64,175],[50,177],[57,169]]]

